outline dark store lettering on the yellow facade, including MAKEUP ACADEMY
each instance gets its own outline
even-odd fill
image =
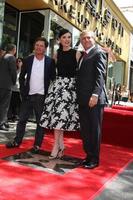
[[[82,13],[80,10],[77,10],[68,0],[50,0],[55,6],[58,6],[64,13],[68,14],[68,17],[75,20],[77,25],[82,25],[83,28],[87,28],[90,24],[89,19]],[[112,15],[108,8],[103,7],[104,0],[75,0],[78,2],[79,6],[83,6],[89,15],[95,18],[96,22],[99,22],[102,27],[107,27],[111,24],[112,31],[117,32],[120,37],[124,36],[124,28],[122,24]],[[122,49],[114,43],[110,38],[105,38],[104,33],[98,31],[98,28],[95,29],[98,39],[101,42],[107,44],[112,50],[116,53],[121,54]]]

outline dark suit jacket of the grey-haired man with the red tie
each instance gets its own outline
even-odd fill
[[[95,46],[81,62],[77,72],[77,97],[79,105],[88,106],[92,94],[98,95],[98,104],[106,104],[105,76],[106,53]]]

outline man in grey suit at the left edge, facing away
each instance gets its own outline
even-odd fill
[[[15,44],[7,44],[0,55],[0,130],[8,131],[7,112],[10,105],[12,86],[16,83]]]

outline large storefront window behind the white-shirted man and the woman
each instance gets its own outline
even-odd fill
[[[75,47],[79,40],[80,31],[53,11],[46,9],[22,12],[20,15],[18,56],[25,57],[31,54],[34,41],[40,36],[44,36],[48,40],[49,47],[46,53],[53,56],[58,48],[58,33],[62,28],[70,30],[72,47]]]

